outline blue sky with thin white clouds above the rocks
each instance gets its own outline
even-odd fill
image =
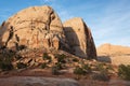
[[[82,17],[96,46],[130,46],[130,0],[1,0],[0,24],[23,9],[44,4],[52,6],[62,22]]]

